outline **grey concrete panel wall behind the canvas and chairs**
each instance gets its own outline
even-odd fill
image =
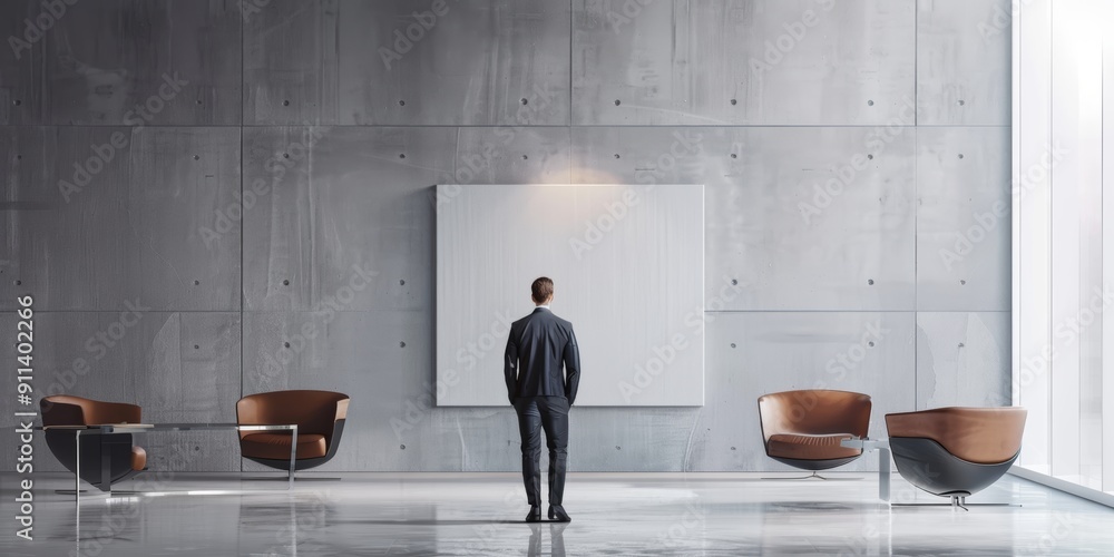
[[[1009,400],[1007,0],[63,6],[0,3],[0,331],[33,295],[39,394],[228,421],[332,389],[325,470],[514,470],[509,407],[430,407],[432,186],[696,183],[706,403],[574,409],[573,469],[782,469],[774,390],[868,392],[872,434]]]

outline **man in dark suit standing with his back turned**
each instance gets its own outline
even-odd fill
[[[504,374],[507,397],[518,412],[522,437],[522,481],[530,504],[527,522],[541,521],[541,429],[549,447],[549,518],[571,519],[561,507],[568,456],[568,409],[580,381],[580,352],[573,324],[549,311],[554,282],[545,276],[530,285],[534,313],[510,325]],[[561,367],[564,365],[564,373]]]

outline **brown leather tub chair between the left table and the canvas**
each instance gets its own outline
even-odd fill
[[[336,455],[348,417],[348,394],[331,391],[274,391],[236,402],[242,426],[297,424],[294,469],[305,470]],[[240,451],[261,465],[290,470],[290,431],[241,431]]]

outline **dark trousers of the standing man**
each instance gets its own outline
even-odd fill
[[[568,458],[568,399],[519,397],[515,400],[518,431],[522,436],[522,482],[526,499],[541,505],[541,430],[549,447],[549,505],[561,505],[565,461]]]

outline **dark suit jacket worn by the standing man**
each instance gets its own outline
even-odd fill
[[[514,322],[507,339],[504,374],[511,403],[518,397],[565,397],[573,405],[580,382],[580,351],[573,323],[545,307]]]

